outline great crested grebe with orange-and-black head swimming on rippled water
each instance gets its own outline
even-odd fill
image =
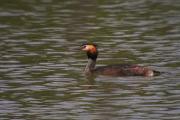
[[[131,65],[131,64],[117,64],[108,65],[95,68],[96,59],[98,56],[97,46],[93,43],[87,43],[82,45],[82,50],[86,51],[88,57],[88,64],[85,68],[85,74],[101,74],[109,76],[156,76],[160,72],[149,69],[144,66]]]

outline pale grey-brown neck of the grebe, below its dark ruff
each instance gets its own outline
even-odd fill
[[[92,71],[95,69],[95,66],[96,66],[96,59],[89,58],[88,63],[85,67],[85,73],[86,74],[92,73]]]

